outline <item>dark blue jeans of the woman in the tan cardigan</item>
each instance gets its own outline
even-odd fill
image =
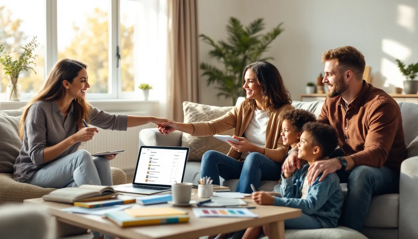
[[[220,152],[209,150],[203,154],[200,167],[201,177],[211,177],[213,184],[219,185],[219,176],[224,180],[240,179],[237,192],[252,193],[250,184],[260,187],[261,180],[278,181],[281,164],[260,153],[250,153],[244,162]]]

